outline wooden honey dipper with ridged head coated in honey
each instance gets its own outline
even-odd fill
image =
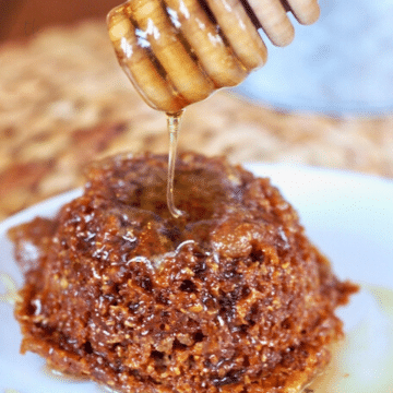
[[[153,108],[176,114],[266,61],[276,46],[319,17],[317,0],[130,0],[107,17],[119,62]]]

